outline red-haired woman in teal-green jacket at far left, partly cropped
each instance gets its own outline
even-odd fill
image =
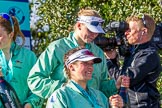
[[[17,36],[22,45],[16,44]],[[0,67],[5,80],[15,89],[23,108],[41,108],[43,99],[34,95],[28,85],[27,77],[36,62],[34,52],[24,48],[25,37],[19,28],[16,17],[0,13]],[[3,108],[0,100],[0,108]]]

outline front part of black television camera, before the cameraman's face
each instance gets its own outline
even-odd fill
[[[119,54],[125,56],[130,54],[130,45],[128,44],[124,32],[129,28],[125,21],[112,21],[105,27],[105,32],[114,32],[116,36],[105,37],[103,34],[94,40],[94,43],[98,45],[102,50],[110,51],[118,48]]]

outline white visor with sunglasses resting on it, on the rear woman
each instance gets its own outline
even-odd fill
[[[91,32],[105,34],[105,31],[102,29],[102,23],[104,22],[102,18],[95,16],[79,16],[77,22],[84,23]]]

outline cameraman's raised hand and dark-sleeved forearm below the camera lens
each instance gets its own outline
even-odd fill
[[[107,59],[109,77],[115,78],[115,80],[117,80],[117,78],[120,75],[120,71],[119,71],[120,65],[119,65],[119,58],[118,58],[116,50],[113,49],[111,51],[104,51],[104,54]]]

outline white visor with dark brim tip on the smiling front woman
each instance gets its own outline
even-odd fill
[[[94,56],[94,54],[88,49],[81,49],[70,55],[67,61],[65,62],[65,65],[68,66],[69,64],[75,61],[90,61],[90,60],[93,60],[94,63],[100,63],[102,61],[101,58]]]

